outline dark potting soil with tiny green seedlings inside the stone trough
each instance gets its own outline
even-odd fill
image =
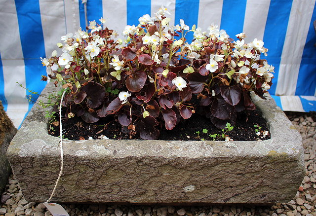
[[[65,113],[63,110],[62,113]],[[59,114],[55,113],[55,119],[59,119]],[[64,116],[64,114],[63,114]],[[57,125],[57,126],[56,126]],[[256,126],[254,126],[256,125]],[[102,139],[102,135],[114,140],[130,140],[140,139],[139,134],[130,136],[126,127],[123,129],[118,121],[111,115],[102,118],[96,123],[86,123],[79,117],[62,118],[63,137],[69,140],[88,140],[89,137],[93,139]],[[216,128],[210,119],[201,116],[197,113],[193,114],[191,118],[183,120],[172,130],[166,130],[163,127],[157,129],[160,131],[158,140],[216,140],[223,141],[221,129]],[[257,135],[257,130],[261,132]],[[48,134],[59,136],[59,122],[52,122],[48,128]],[[270,132],[263,136],[264,131],[269,131],[265,119],[257,110],[243,111],[237,113],[236,125],[232,131],[227,131],[225,136],[228,136],[234,141],[255,141],[270,139]],[[218,134],[216,138],[211,137]]]

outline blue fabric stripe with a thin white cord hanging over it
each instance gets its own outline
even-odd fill
[[[103,17],[102,0],[88,0],[87,1],[87,19],[89,21],[95,20],[98,24],[101,24],[99,19]],[[79,0],[79,20],[82,31],[85,31],[85,15],[84,4],[82,0]]]

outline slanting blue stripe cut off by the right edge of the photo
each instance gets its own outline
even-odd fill
[[[313,95],[316,88],[316,35],[313,22],[316,20],[316,5],[310,21],[310,28],[303,50],[295,95]]]

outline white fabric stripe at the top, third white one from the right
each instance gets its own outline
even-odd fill
[[[211,24],[221,26],[223,0],[200,0],[197,27],[206,31]]]

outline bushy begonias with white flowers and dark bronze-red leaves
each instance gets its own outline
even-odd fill
[[[90,22],[87,31],[62,36],[61,56],[41,59],[67,90],[66,118],[94,123],[114,115],[131,137],[158,139],[161,127],[172,130],[194,112],[219,128],[234,125],[237,112],[255,108],[250,91],[264,98],[274,68],[260,59],[262,40],[246,44],[242,33],[234,41],[214,25],[202,32],[182,19],[172,26],[163,6],[155,15],[126,26],[123,40],[103,18]]]

